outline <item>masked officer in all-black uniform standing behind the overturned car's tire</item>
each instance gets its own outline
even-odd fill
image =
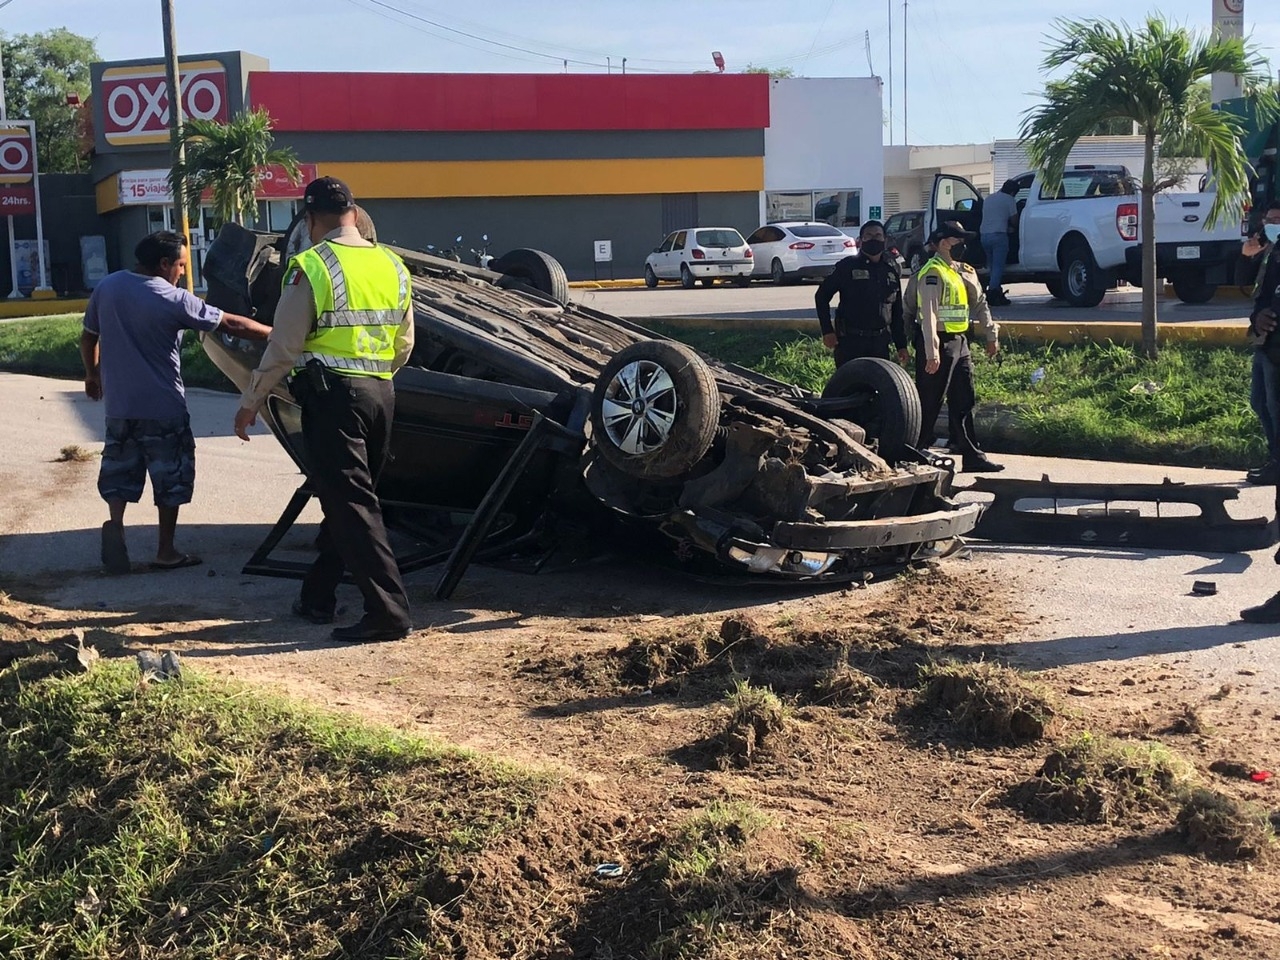
[[[836,352],[836,366],[855,357],[888,358],[892,338],[899,362],[906,362],[906,328],[902,325],[902,275],[884,255],[884,227],[868,220],[858,234],[856,256],[845,257],[813,296],[822,326],[822,342]],[[831,298],[840,293],[836,323]]]

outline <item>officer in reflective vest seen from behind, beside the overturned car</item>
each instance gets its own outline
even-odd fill
[[[390,443],[392,374],[413,348],[408,270],[392,251],[360,236],[342,180],[308,183],[303,209],[314,246],[288,261],[271,338],[241,398],[236,434],[248,439],[262,401],[292,371],[307,476],[324,509],[320,556],[293,612],[332,623],[346,570],[364,594],[365,616],[333,637],[399,640],[411,630],[408,598],[375,490]]]

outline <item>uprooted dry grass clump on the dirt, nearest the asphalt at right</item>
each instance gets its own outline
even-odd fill
[[[1057,716],[1046,687],[996,663],[922,667],[918,704],[947,713],[959,730],[996,744],[1041,740]]]

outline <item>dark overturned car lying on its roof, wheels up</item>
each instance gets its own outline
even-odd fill
[[[209,301],[270,323],[284,247],[284,236],[224,227],[206,256]],[[539,251],[490,269],[397,252],[412,274],[416,346],[396,375],[379,497],[388,526],[421,547],[404,568],[547,550],[588,531],[616,544],[657,534],[691,568],[714,558],[847,580],[946,553],[978,522],[980,506],[950,498],[952,463],[914,448],[919,397],[893,364],[846,364],[818,397],[572,303]],[[219,334],[205,349],[238,388],[261,355]],[[284,387],[264,417],[306,472]],[[303,485],[250,570],[289,572],[268,554],[307,495]]]

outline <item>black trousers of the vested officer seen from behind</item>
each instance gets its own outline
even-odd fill
[[[320,384],[326,389],[320,389]],[[365,598],[364,622],[410,627],[408,598],[375,493],[390,447],[396,389],[390,380],[303,371],[291,389],[302,406],[307,476],[324,511],[302,604],[330,612],[343,571]]]

